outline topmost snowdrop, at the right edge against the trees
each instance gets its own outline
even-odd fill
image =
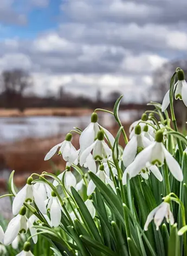
[[[183,100],[185,106],[187,107],[187,83],[184,80],[184,72],[182,69],[180,69],[177,72],[178,75],[178,81],[174,86],[175,90],[175,99]],[[166,108],[170,104],[170,90],[167,91],[167,93],[164,96],[163,102],[162,102],[162,112],[166,110]]]

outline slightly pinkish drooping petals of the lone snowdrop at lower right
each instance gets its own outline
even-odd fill
[[[150,222],[154,219],[154,224],[156,225],[157,230],[159,229],[159,225],[164,220],[164,217],[166,218],[166,221],[171,223],[171,225],[174,224],[174,218],[173,214],[170,210],[170,204],[167,202],[162,202],[159,206],[154,208],[150,214],[147,216],[147,220],[144,225],[144,230],[148,230],[148,226]]]

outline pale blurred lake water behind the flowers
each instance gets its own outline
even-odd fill
[[[129,123],[136,119],[137,111],[120,111],[122,123]],[[0,118],[1,143],[19,141],[24,138],[44,138],[64,134],[74,126],[86,127],[90,122],[90,115],[82,117],[2,117]],[[114,124],[114,117],[108,113],[99,113],[99,123],[105,127]]]

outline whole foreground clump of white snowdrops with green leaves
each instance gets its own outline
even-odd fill
[[[178,131],[174,98],[187,106],[179,68],[162,105],[149,103],[152,110],[130,126],[129,139],[118,113],[121,96],[113,112],[95,109],[85,130],[74,127],[50,149],[45,161],[55,154],[66,161],[59,175],[33,173],[16,192],[12,172],[5,196],[12,198],[14,218],[7,230],[0,226],[2,252],[27,233],[17,255],[34,255],[39,235],[48,237],[54,255],[187,255],[187,140]],[[99,111],[119,124],[115,137],[99,124]],[[75,133],[79,150],[71,142]]]

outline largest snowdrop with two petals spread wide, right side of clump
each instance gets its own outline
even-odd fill
[[[179,166],[179,163],[175,158],[166,150],[164,147],[163,141],[163,132],[157,131],[155,142],[152,142],[149,147],[142,150],[137,156],[134,162],[132,163],[132,170],[130,172],[131,178],[136,176],[142,169],[146,167],[147,163],[152,165],[157,164],[162,166],[164,160],[167,163],[167,166],[170,169],[172,175],[178,180],[183,180],[183,173]]]

